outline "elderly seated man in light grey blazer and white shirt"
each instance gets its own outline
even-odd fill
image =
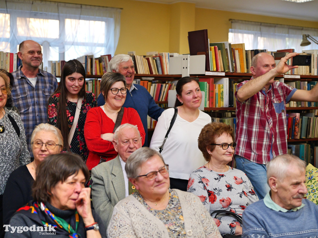
[[[117,157],[92,169],[93,206],[106,227],[114,206],[133,192],[125,165],[130,154],[142,147],[137,127],[128,123],[120,125],[114,132],[113,145]]]

